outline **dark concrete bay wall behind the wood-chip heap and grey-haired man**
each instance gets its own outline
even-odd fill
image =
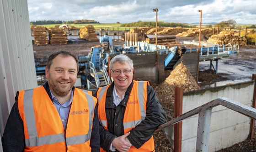
[[[110,54],[110,59],[117,54]],[[126,55],[133,60],[134,79],[148,80],[151,83],[156,83],[157,78],[157,53],[156,52],[142,52],[142,53],[126,53]],[[166,54],[159,55],[159,83],[165,81],[170,75],[171,70],[165,70],[164,60]],[[198,53],[186,53],[183,55],[183,63],[187,66],[190,73],[197,79],[197,59]],[[181,61],[178,61],[178,65]],[[175,65],[175,66],[176,66]]]

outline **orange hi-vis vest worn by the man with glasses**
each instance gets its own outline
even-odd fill
[[[133,80],[133,88],[129,96],[126,109],[123,118],[124,133],[129,132],[135,126],[137,126],[141,121],[145,119],[146,116],[146,104],[147,104],[147,85],[148,81],[135,81]],[[101,126],[107,129],[107,116],[105,110],[106,104],[106,94],[107,89],[110,85],[105,87],[100,87],[97,91],[98,98],[98,116]],[[144,143],[139,149],[132,146],[128,152],[154,152],[155,145],[153,136]],[[105,152],[101,148],[101,152]]]

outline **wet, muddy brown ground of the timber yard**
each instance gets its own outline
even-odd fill
[[[185,39],[186,41],[192,40],[192,38]],[[91,47],[97,45],[101,45],[101,43],[69,37],[69,42],[65,45],[33,45],[34,58],[36,62],[46,62],[51,53],[61,50],[72,51],[78,56],[86,56],[91,52]],[[113,45],[123,46],[123,42],[113,41]],[[214,69],[215,64],[216,62],[213,62]],[[251,80],[252,74],[256,74],[256,46],[242,46],[237,55],[219,60],[218,74],[209,70],[209,65],[209,61],[200,62],[199,86],[201,88]],[[173,152],[170,143],[161,131],[154,137],[156,152]],[[256,152],[256,139],[254,137],[253,140],[246,140],[219,152]]]

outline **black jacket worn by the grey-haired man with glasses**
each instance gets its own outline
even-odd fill
[[[113,102],[112,93],[114,83],[112,83],[107,89],[105,108],[108,131],[100,125],[101,147],[107,152],[109,152],[109,147],[111,146],[114,138],[124,135],[123,116],[132,87],[133,82],[126,90],[125,96],[118,106],[116,106]],[[96,96],[96,94],[94,94],[94,96]],[[133,128],[130,131],[130,135],[128,136],[129,141],[136,148],[141,147],[145,142],[147,142],[150,137],[153,136],[156,128],[165,123],[167,120],[166,113],[160,105],[154,89],[150,85],[147,86],[147,98],[147,111],[145,120]]]

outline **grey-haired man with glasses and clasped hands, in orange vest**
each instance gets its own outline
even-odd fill
[[[113,82],[98,98],[101,152],[154,152],[155,129],[166,113],[148,81],[133,80],[133,61],[120,54],[110,61]]]

